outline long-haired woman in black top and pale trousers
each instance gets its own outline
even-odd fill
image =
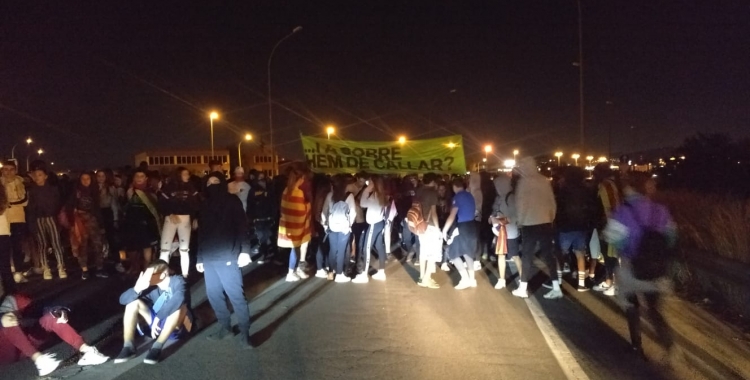
[[[180,268],[185,278],[190,270],[191,220],[198,211],[198,195],[198,189],[190,180],[190,171],[184,167],[177,168],[172,180],[159,192],[159,211],[164,215],[159,259],[169,262],[172,242],[177,234],[180,244]]]

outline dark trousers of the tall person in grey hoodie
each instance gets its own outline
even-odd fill
[[[549,269],[550,277],[557,280],[557,259],[554,255],[553,240],[555,230],[552,224],[538,224],[535,226],[521,227],[521,266],[523,267],[521,281],[529,282],[531,279],[531,267],[537,247],[541,259],[544,260]]]

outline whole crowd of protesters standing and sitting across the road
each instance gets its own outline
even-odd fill
[[[538,256],[550,275],[544,298],[563,297],[561,284],[567,274],[578,291],[621,295],[633,349],[642,352],[636,294],[646,292],[649,313],[664,340],[671,342],[655,307],[659,288],[649,286],[654,277],[639,278],[631,265],[644,236],[643,225],[651,223],[651,229],[674,236],[666,209],[649,200],[654,185],[648,176],[631,173],[620,178],[609,164],[602,164],[590,180],[578,167],[561,167],[550,179],[540,174],[533,158],[520,160],[512,172],[494,178],[489,173],[426,173],[421,178],[313,175],[304,163],[293,162],[273,179],[255,171],[246,175],[237,168],[227,182],[221,167],[212,162],[203,178],[185,168],[163,176],[142,165],[117,173],[84,172],[71,180],[52,175],[41,161],[26,177],[18,175],[13,162],[4,163],[3,294],[21,297],[18,284],[33,275],[67,278],[68,253],[84,280],[114,272],[138,275],[135,286],[120,299],[125,336],[115,362],[135,356],[133,331],[140,316],[157,339],[145,360],[155,364],[167,337],[189,325],[185,279],[194,272],[204,273],[219,321],[211,338],[231,335],[229,300],[239,321],[240,344],[250,347],[240,268],[253,260],[288,263],[289,282],[314,275],[361,284],[386,281],[387,261],[398,259],[419,267],[417,285],[424,288],[440,287],[433,279],[437,268],[456,271],[457,290],[479,286],[475,272],[494,265],[494,288],[505,289],[515,276],[507,263],[513,263],[517,282],[512,294],[527,298]],[[396,244],[400,250],[393,250]],[[397,256],[398,251],[402,254]],[[377,263],[371,262],[372,255]],[[173,256],[179,257],[179,271],[169,267]],[[173,276],[175,272],[181,276]],[[67,321],[64,310],[52,315]],[[48,320],[40,324],[50,326]],[[17,327],[13,318],[3,316],[2,357],[15,358],[4,352],[18,350],[37,363],[40,373],[49,373],[59,362],[30,346],[18,346],[23,334],[12,338],[9,333]],[[66,338],[77,334],[47,327],[85,353],[84,362],[102,361],[103,356],[80,337]]]

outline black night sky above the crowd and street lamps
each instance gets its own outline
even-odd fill
[[[582,3],[582,154],[606,154],[610,130],[614,152],[749,134],[750,2]],[[328,124],[347,139],[460,133],[467,161],[486,143],[501,159],[577,149],[574,0],[4,1],[0,156],[18,143],[25,157],[27,136],[68,168],[208,149],[212,109],[217,148],[267,139],[266,62],[298,25],[272,66],[284,157]]]

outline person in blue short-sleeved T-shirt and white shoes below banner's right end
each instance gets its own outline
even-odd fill
[[[448,258],[461,274],[461,281],[455,288],[463,290],[477,286],[477,280],[474,277],[474,260],[478,252],[479,231],[474,220],[476,212],[474,197],[466,191],[463,179],[453,180],[453,193],[455,194],[453,207],[443,226],[443,239],[448,243]]]

